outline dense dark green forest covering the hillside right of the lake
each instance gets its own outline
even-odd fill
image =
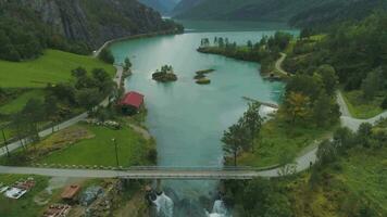
[[[337,24],[321,40],[311,41],[312,28],[301,33],[285,68],[289,72],[313,72],[329,64],[345,90],[360,90],[364,101],[384,97],[387,108],[387,14],[375,12],[362,21]],[[301,56],[301,58],[300,58]]]

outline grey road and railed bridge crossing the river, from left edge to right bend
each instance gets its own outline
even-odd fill
[[[316,146],[310,146],[297,157],[294,173],[305,170],[316,159]],[[287,165],[289,168],[290,165]],[[0,166],[0,174],[38,175],[47,177],[122,178],[122,179],[187,179],[187,180],[249,180],[257,177],[279,177],[283,168],[253,167],[129,167],[123,169],[79,169]]]

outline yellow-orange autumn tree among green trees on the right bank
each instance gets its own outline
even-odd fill
[[[309,115],[309,104],[308,97],[298,92],[290,92],[285,102],[285,112],[286,115],[289,115],[290,122],[304,119]]]

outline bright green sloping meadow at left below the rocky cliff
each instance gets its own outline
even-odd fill
[[[41,88],[48,82],[67,81],[71,71],[82,66],[88,71],[105,68],[112,76],[112,65],[86,55],[47,50],[42,56],[27,62],[0,61],[0,87],[2,88]]]

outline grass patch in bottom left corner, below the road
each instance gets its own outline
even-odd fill
[[[18,176],[18,175],[0,175],[0,183],[7,186],[14,183],[20,179],[33,177],[36,186],[32,191],[18,200],[11,200],[0,195],[0,216],[4,217],[36,217],[41,216],[46,206],[39,206],[34,202],[34,196],[41,192],[48,186],[48,178],[38,176]]]

